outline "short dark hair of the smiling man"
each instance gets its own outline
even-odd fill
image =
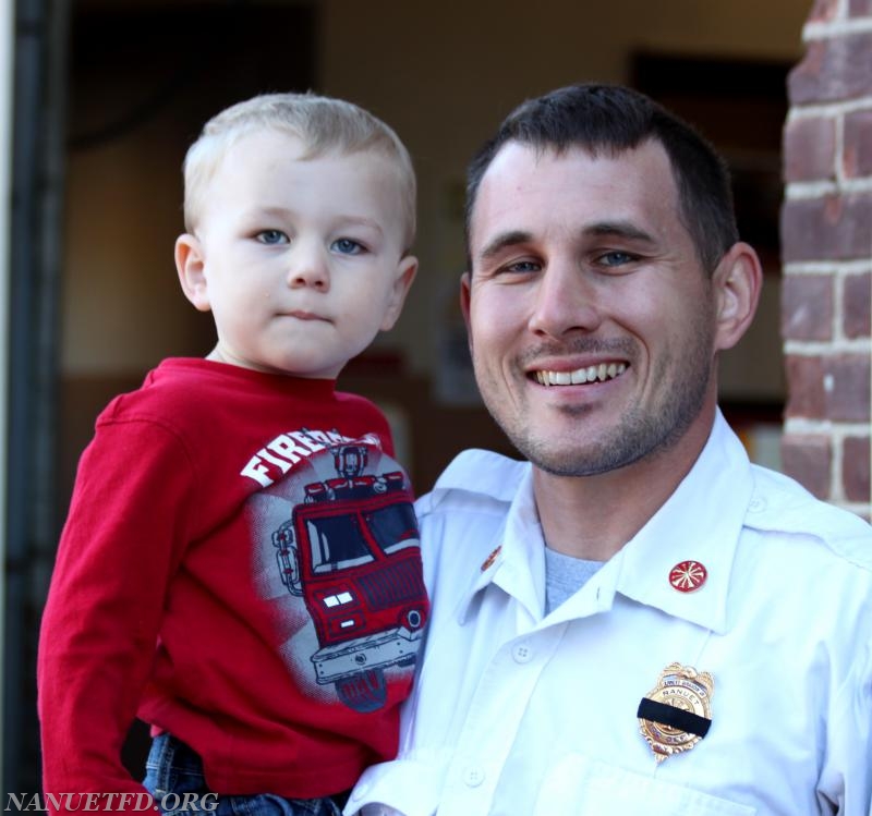
[[[557,154],[582,148],[592,156],[616,156],[651,139],[659,142],[669,157],[682,222],[703,268],[713,272],[724,253],[739,240],[726,162],[690,124],[644,94],[619,85],[589,83],[558,88],[528,99],[506,118],[469,166],[468,252],[479,186],[507,143]]]

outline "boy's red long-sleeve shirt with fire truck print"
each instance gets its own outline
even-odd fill
[[[392,756],[427,606],[391,454],[328,380],[175,358],[110,403],[43,617],[46,792],[142,792],[136,715],[219,793],[327,795]]]

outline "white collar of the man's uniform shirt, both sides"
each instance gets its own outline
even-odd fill
[[[494,540],[496,555],[482,564],[465,595],[461,620],[477,593],[491,583],[514,596],[531,618],[542,614],[544,540],[533,499],[532,467],[516,464],[519,467],[510,478],[501,480],[502,496],[513,492],[513,498]],[[718,410],[705,447],[675,492],[591,578],[590,583],[598,584],[598,609],[609,608],[617,592],[673,617],[718,633],[726,631],[729,576],[752,488],[744,448]],[[705,583],[691,593],[679,592],[669,582],[673,569],[685,561],[702,564],[707,573]],[[572,599],[564,605],[567,613],[571,605]]]

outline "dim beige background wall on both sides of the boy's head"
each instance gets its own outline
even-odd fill
[[[798,60],[809,7],[810,0],[323,0],[318,89],[393,124],[420,173],[421,273],[382,343],[401,346],[415,373],[437,364],[438,331],[463,267],[464,166],[514,103],[577,80],[622,81],[633,49]],[[71,157],[68,375],[138,372],[166,354],[205,351],[207,327],[177,292],[172,265],[180,160],[156,130]],[[777,314],[765,320],[777,327]],[[778,348],[773,355],[779,370]]]

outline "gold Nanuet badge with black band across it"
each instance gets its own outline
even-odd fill
[[[642,697],[635,715],[658,763],[690,751],[708,733],[714,690],[714,678],[707,671],[669,663],[661,672],[656,689]]]

